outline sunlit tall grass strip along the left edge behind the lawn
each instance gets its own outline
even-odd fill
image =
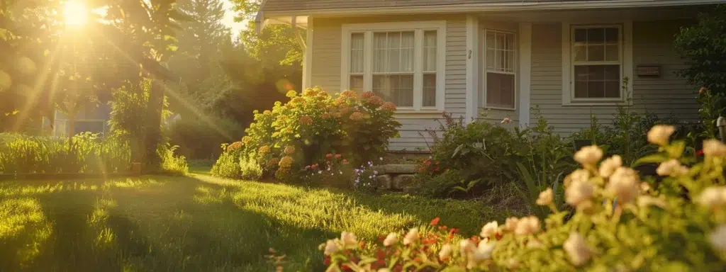
[[[98,134],[67,138],[0,134],[0,173],[118,173],[129,170],[129,144]]]

